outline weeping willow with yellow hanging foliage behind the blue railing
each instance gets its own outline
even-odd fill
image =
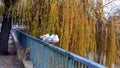
[[[115,21],[103,20],[101,6],[100,1],[20,0],[11,11],[13,22],[26,25],[28,34],[58,34],[56,46],[111,68],[116,63]]]

